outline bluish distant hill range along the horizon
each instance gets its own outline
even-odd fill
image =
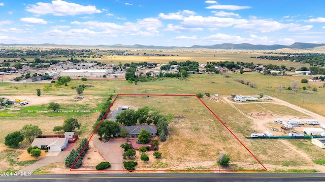
[[[62,45],[62,44],[53,44],[53,43],[44,43],[44,44],[4,44],[0,43],[2,46],[50,46],[50,47],[104,47],[104,48],[128,48],[128,49],[223,49],[223,50],[278,50],[278,49],[301,49],[301,50],[311,50],[317,47],[325,46],[325,43],[302,43],[296,42],[291,45],[261,45],[261,44],[250,44],[250,43],[222,43],[214,45],[192,45],[191,47],[176,47],[176,46],[156,46],[156,45],[123,45],[123,44],[114,44],[114,45]]]

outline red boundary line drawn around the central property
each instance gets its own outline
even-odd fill
[[[213,114],[214,117],[216,117],[220,123],[226,128],[228,129],[228,131],[235,136],[236,140],[254,157],[254,159],[263,166],[264,169],[252,169],[252,170],[245,170],[245,169],[239,169],[239,170],[228,170],[228,169],[213,169],[213,170],[205,170],[205,169],[193,169],[193,170],[163,170],[163,169],[143,169],[143,170],[94,170],[94,169],[73,169],[73,167],[75,166],[76,162],[78,161],[78,159],[80,158],[81,154],[83,153],[83,151],[85,150],[86,146],[89,144],[89,141],[91,140],[92,136],[94,135],[94,133],[96,132],[96,130],[98,129],[98,127],[100,126],[100,124],[102,123],[102,121],[104,120],[104,118],[106,117],[107,113],[110,111],[111,107],[113,106],[114,102],[116,101],[116,99],[118,98],[118,96],[173,96],[173,97],[197,97],[201,103]],[[98,124],[98,126],[95,128],[95,130],[93,131],[93,133],[91,134],[88,142],[86,143],[86,145],[83,147],[83,149],[81,150],[80,154],[78,155],[77,159],[75,160],[75,162],[73,163],[72,167],[70,168],[71,171],[267,171],[268,169],[261,163],[261,161],[259,161],[254,154],[252,154],[250,152],[250,150],[248,150],[248,148],[237,138],[237,136],[218,118],[218,116],[216,114],[214,114],[214,112],[197,96],[197,95],[167,95],[167,94],[118,94],[115,99],[113,100],[112,104],[110,105],[110,107],[108,108],[108,110],[106,111],[104,117],[102,118],[101,122]]]

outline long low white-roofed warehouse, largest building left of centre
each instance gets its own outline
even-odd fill
[[[107,69],[71,69],[61,71],[61,76],[72,76],[72,77],[103,77],[107,75],[109,70]]]

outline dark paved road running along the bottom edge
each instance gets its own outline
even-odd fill
[[[324,181],[325,173],[41,174],[0,176],[0,181]]]

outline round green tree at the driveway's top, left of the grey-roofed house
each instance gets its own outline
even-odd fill
[[[115,121],[104,120],[99,125],[96,130],[96,133],[100,136],[100,138],[110,139],[112,136],[115,136],[118,132],[119,124]]]

